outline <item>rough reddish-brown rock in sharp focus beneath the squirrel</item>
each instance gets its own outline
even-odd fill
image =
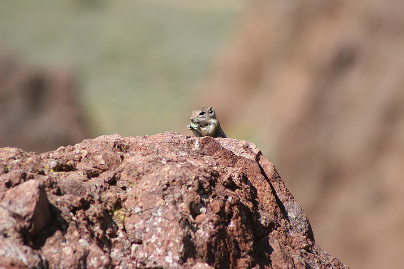
[[[162,133],[0,149],[10,268],[347,268],[252,143]]]

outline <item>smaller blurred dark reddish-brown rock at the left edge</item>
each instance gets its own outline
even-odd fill
[[[0,47],[0,147],[41,153],[86,138],[74,90],[68,72],[28,66]]]

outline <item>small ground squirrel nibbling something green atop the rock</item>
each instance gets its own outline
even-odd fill
[[[216,119],[216,113],[212,106],[199,107],[194,110],[190,120],[192,123],[188,124],[187,127],[196,137],[227,137],[220,128],[220,123]]]

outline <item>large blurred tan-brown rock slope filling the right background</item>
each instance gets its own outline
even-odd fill
[[[203,89],[229,137],[252,137],[321,247],[401,268],[403,1],[255,1]],[[234,137],[244,138],[244,137]]]

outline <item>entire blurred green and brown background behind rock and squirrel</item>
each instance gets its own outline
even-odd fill
[[[402,0],[0,0],[0,147],[186,129],[212,105],[351,268],[401,268]]]

